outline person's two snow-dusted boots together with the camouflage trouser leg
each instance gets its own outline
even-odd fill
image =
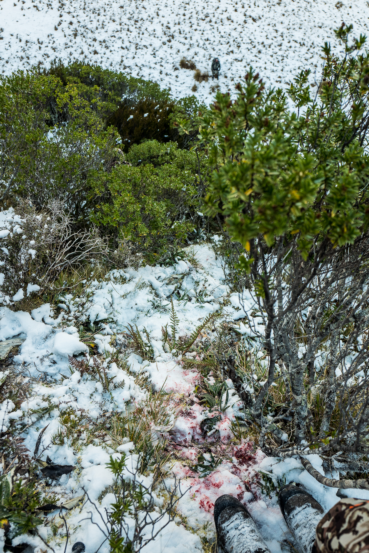
[[[288,484],[278,502],[301,553],[369,553],[369,501],[341,499],[324,515],[312,495]],[[216,500],[214,522],[226,553],[271,553],[245,505],[231,495]]]

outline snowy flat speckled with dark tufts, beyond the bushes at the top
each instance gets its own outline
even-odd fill
[[[192,94],[194,72],[179,68],[183,56],[201,71],[221,61],[221,90],[233,90],[252,65],[268,84],[285,86],[302,69],[319,80],[321,46],[336,48],[342,20],[368,35],[366,0],[166,0],[105,3],[90,0],[3,0],[0,3],[0,71],[10,74],[51,60],[86,60],[169,87],[174,97]],[[198,85],[209,102],[214,82]]]

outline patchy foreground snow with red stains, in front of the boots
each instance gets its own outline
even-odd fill
[[[44,432],[39,451],[43,451],[41,460],[48,455],[54,463],[73,465],[75,469],[70,474],[64,474],[59,479],[44,488],[49,494],[54,492],[59,497],[59,503],[67,499],[79,497],[84,490],[89,498],[102,509],[113,501],[111,493],[104,490],[113,483],[113,476],[106,467],[110,455],[119,458],[123,451],[128,455],[128,463],[137,460],[133,442],[119,447],[112,447],[111,440],[95,439],[86,443],[88,431],[86,425],[80,430],[79,440],[74,436],[64,438],[64,444],[53,444],[53,437],[58,431],[65,430],[65,416],[77,419],[103,420],[116,411],[131,410],[148,396],[148,389],[142,385],[142,378],[157,392],[160,389],[171,393],[170,406],[174,409],[171,430],[152,428],[152,438],[167,439],[166,451],[170,458],[167,463],[167,484],[174,482],[174,476],[181,478],[181,489],[188,492],[181,498],[178,517],[160,533],[154,544],[150,543],[145,550],[153,553],[181,553],[184,551],[201,551],[200,538],[214,539],[215,529],[212,518],[214,502],[219,495],[230,493],[238,497],[251,510],[264,540],[273,553],[281,551],[281,543],[287,538],[293,542],[283,517],[280,514],[277,496],[273,492],[269,496],[262,493],[262,474],[273,474],[274,481],[285,480],[300,482],[328,510],[337,500],[336,489],[325,488],[316,482],[302,467],[299,461],[290,459],[283,462],[276,458],[267,458],[257,449],[251,440],[237,441],[233,438],[230,427],[235,421],[235,415],[240,416],[240,401],[235,392],[230,390],[230,399],[221,413],[217,413],[212,431],[206,435],[204,421],[215,416],[211,411],[199,404],[196,395],[196,385],[200,383],[201,375],[196,364],[186,364],[193,359],[200,361],[196,344],[183,356],[178,352],[170,352],[168,346],[163,346],[162,327],[170,327],[170,295],[180,291],[183,300],[175,299],[173,305],[178,323],[176,337],[189,335],[198,327],[204,318],[212,312],[221,312],[216,325],[228,324],[237,326],[245,316],[245,310],[251,316],[254,307],[250,294],[240,302],[238,294],[230,293],[224,284],[224,272],[220,259],[216,259],[211,244],[199,244],[186,248],[183,259],[170,267],[143,267],[113,271],[101,282],[94,281],[86,290],[85,296],[74,298],[66,296],[65,303],[60,304],[61,314],[56,317],[49,304],[44,304],[32,311],[14,312],[7,307],[1,307],[0,340],[18,336],[25,338],[14,357],[14,371],[22,375],[24,387],[27,381],[33,379],[29,389],[29,398],[19,409],[12,402],[3,403],[1,418],[4,424],[10,419],[35,421],[25,434],[25,446],[32,455],[37,437],[41,429],[48,425]],[[243,305],[243,307],[242,307]],[[245,310],[244,310],[245,309]],[[98,325],[98,320],[108,320],[102,324],[101,333],[93,339],[98,347],[99,355],[90,357],[88,347],[80,341],[79,328],[81,322],[90,321]],[[124,346],[124,335],[128,324],[137,325],[142,338],[149,336],[148,347],[152,348],[153,361],[143,361],[138,354],[131,353]],[[242,332],[245,327],[240,325]],[[146,329],[147,334],[144,333]],[[202,331],[199,340],[211,341],[212,328]],[[245,336],[246,336],[245,332]],[[117,351],[119,344],[123,346]],[[99,359],[108,378],[112,378],[110,390],[105,390],[101,380],[93,378],[86,372],[82,375],[76,369],[70,371],[68,356],[86,353],[89,366]],[[126,359],[127,363],[117,364],[113,359]],[[119,365],[119,367],[118,367]],[[101,369],[102,370],[102,369]],[[140,377],[141,375],[141,380]],[[35,381],[38,379],[38,382]],[[124,384],[122,381],[124,380]],[[214,378],[209,375],[209,383]],[[115,385],[120,383],[121,385]],[[232,383],[227,382],[232,388]],[[233,394],[233,395],[232,395]],[[43,414],[43,409],[45,414]],[[108,413],[108,414],[106,414]],[[87,425],[88,426],[88,425]],[[173,426],[173,427],[172,427]],[[58,440],[56,440],[58,441]],[[87,440],[88,441],[88,440]],[[45,448],[45,450],[44,450]],[[205,478],[191,468],[199,453],[210,461],[210,452],[221,462]],[[315,468],[323,474],[318,456],[310,456]],[[331,476],[326,474],[326,476]],[[333,474],[333,477],[336,477]],[[150,484],[149,476],[144,477],[144,483]],[[40,481],[44,481],[40,473]],[[352,491],[354,492],[354,491]],[[158,509],[162,505],[160,493],[157,492]],[[355,492],[355,497],[364,497],[367,492]],[[348,495],[353,496],[354,493]],[[86,498],[86,497],[85,497]],[[101,500],[99,507],[98,498]],[[45,499],[46,502],[47,498]],[[55,499],[53,500],[55,502]],[[91,512],[89,502],[81,503],[65,514],[70,529],[69,553],[71,545],[82,541],[86,545],[86,553],[98,549],[104,537],[98,526],[89,519]],[[93,509],[92,509],[93,510]],[[58,512],[52,512],[49,518],[56,517]],[[98,520],[95,512],[94,520]],[[59,520],[59,519],[58,519]],[[56,522],[58,523],[58,520]],[[64,551],[65,529],[60,524],[56,536],[53,536],[48,526],[42,526],[40,533],[49,540],[56,553]],[[37,536],[19,536],[14,543],[28,541],[36,546],[36,551],[44,549]],[[108,551],[105,543],[100,551]]]

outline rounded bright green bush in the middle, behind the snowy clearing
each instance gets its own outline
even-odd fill
[[[185,218],[196,193],[188,169],[118,165],[111,173],[96,172],[90,182],[98,200],[92,220],[118,241],[128,239],[141,251],[155,252],[168,241],[183,241],[193,229]]]

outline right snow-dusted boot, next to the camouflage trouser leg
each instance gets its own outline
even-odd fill
[[[302,553],[315,552],[315,530],[324,509],[303,488],[288,484],[278,495],[280,510]]]

